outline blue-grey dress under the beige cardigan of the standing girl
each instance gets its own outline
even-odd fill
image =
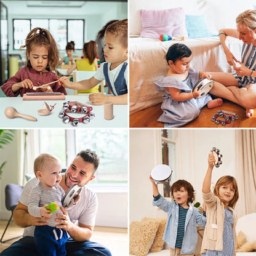
[[[224,228],[223,228],[223,250],[206,250],[201,256],[234,256],[234,234],[232,225],[234,218],[232,212],[225,208]]]

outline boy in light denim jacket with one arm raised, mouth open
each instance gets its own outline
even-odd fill
[[[194,255],[198,242],[197,227],[206,226],[206,216],[192,205],[194,188],[186,180],[178,180],[171,188],[172,202],[164,199],[158,185],[150,176],[153,187],[153,206],[158,206],[168,214],[163,240],[170,246],[171,256]]]

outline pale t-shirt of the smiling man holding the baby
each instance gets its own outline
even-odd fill
[[[24,186],[22,195],[20,196],[20,202],[25,206],[28,206],[30,191],[38,183],[37,178],[31,178]],[[67,210],[70,221],[76,225],[79,222],[83,225],[94,226],[98,209],[97,196],[93,191],[86,188],[86,186],[82,187],[80,196],[79,202],[72,209]],[[24,228],[23,236],[34,236],[34,226]]]

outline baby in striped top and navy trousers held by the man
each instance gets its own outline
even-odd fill
[[[43,153],[34,160],[34,174],[39,179],[39,183],[31,190],[28,212],[34,217],[47,218],[47,225],[36,226],[34,230],[34,243],[39,255],[66,255],[65,243],[68,233],[61,228],[55,228],[59,225],[55,222],[57,214],[63,214],[59,208],[65,196],[64,190],[59,185],[62,180],[61,172],[61,161],[52,154]],[[79,197],[74,200],[75,203],[78,201]],[[46,206],[52,202],[57,202],[59,207],[50,214]]]

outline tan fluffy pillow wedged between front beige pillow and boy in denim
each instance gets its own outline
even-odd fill
[[[167,218],[148,218],[144,217],[142,221],[156,220],[159,222],[158,231],[156,231],[156,237],[154,238],[153,244],[150,247],[150,252],[160,252],[164,247],[164,230],[166,229]]]

